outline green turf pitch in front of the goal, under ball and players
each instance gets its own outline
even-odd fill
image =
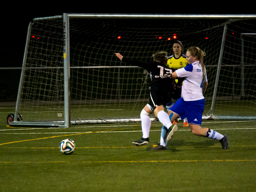
[[[141,126],[73,125],[64,128],[7,127],[13,107],[0,107],[0,191],[255,191],[256,121],[203,121],[229,137],[229,148],[198,137],[188,127],[174,133],[168,150],[152,152],[161,123],[152,122],[146,146],[134,147]],[[64,139],[72,155],[59,151]]]

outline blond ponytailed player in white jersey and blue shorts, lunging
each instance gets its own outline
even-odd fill
[[[172,78],[185,77],[181,90],[181,98],[172,106],[168,115],[171,122],[178,116],[181,119],[187,117],[188,125],[193,134],[211,139],[220,140],[223,149],[228,148],[228,136],[222,135],[209,128],[202,128],[202,115],[204,111],[204,92],[207,87],[206,70],[203,63],[204,52],[198,47],[190,47],[186,53],[188,65],[185,68],[176,70]],[[166,140],[172,139],[173,131],[169,129]],[[161,135],[160,145],[164,145]],[[165,147],[165,146],[164,146]],[[163,147],[158,147],[164,150]]]

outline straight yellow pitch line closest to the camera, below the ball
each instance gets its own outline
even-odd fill
[[[12,162],[12,161],[0,161],[0,163],[168,163],[168,162],[245,162],[245,161],[256,161],[256,159],[228,159],[228,160],[162,160],[162,161],[42,161],[42,162]]]

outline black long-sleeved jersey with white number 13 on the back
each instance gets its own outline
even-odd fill
[[[146,69],[151,78],[150,85],[154,83],[161,83],[161,84],[166,84],[170,87],[172,86],[171,75],[175,71],[175,69],[169,68],[163,63],[160,63],[157,61],[141,62],[135,59],[125,58],[125,57],[123,57],[122,61]]]

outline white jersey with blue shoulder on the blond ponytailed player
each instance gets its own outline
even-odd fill
[[[202,92],[203,70],[199,61],[176,70],[176,73],[178,77],[185,77],[181,88],[181,97],[184,101],[204,99]],[[204,82],[207,82],[206,70]]]

